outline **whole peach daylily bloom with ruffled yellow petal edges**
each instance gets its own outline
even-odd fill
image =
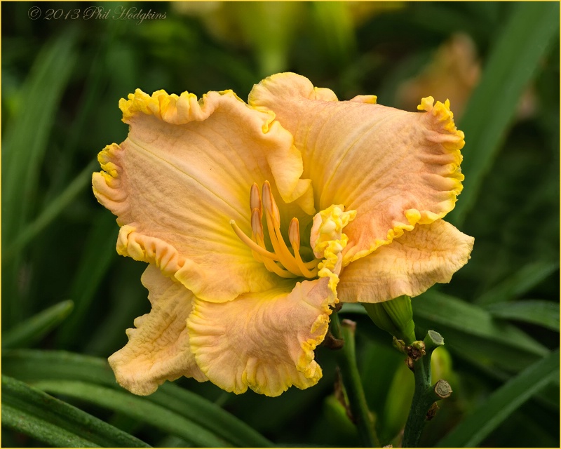
[[[121,100],[128,138],[99,154],[117,251],[148,262],[151,311],[109,358],[151,394],[180,376],[278,396],[316,384],[331,306],[449,282],[473,239],[442,220],[461,191],[448,102],[338,101],[297,74],[250,93]]]

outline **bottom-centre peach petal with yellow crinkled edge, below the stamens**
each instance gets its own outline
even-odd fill
[[[327,278],[286,283],[262,293],[213,303],[195,300],[187,321],[191,351],[209,380],[236,394],[248,387],[278,396],[321,377],[313,349],[329,323]]]

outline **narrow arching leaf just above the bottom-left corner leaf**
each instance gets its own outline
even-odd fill
[[[225,445],[224,440],[191,420],[127,391],[72,380],[42,380],[34,382],[34,387],[120,412],[166,433],[179,436],[196,447],[221,448]]]

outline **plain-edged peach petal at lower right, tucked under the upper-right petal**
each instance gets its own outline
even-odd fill
[[[472,248],[473,237],[444,220],[417,225],[345,267],[339,275],[339,299],[382,302],[420,295],[437,282],[450,282],[468,262]]]

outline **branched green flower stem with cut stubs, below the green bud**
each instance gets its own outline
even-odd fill
[[[415,392],[409,417],[407,417],[407,422],[405,423],[403,448],[417,447],[429,410],[431,410],[436,401],[447,398],[452,394],[450,384],[445,380],[439,380],[434,385],[431,385],[431,355],[434,349],[442,344],[444,344],[442,336],[438,332],[429,330],[424,339],[426,354],[417,360],[410,359],[415,376]]]

